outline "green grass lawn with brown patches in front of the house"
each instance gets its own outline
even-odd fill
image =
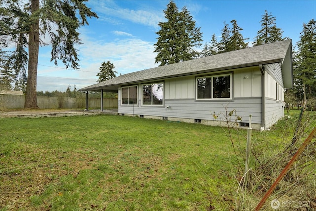
[[[0,121],[1,211],[236,208],[226,128],[113,115]],[[232,132],[243,151],[246,130]]]

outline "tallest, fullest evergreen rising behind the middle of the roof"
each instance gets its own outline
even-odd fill
[[[187,8],[179,12],[171,0],[164,14],[167,22],[159,22],[161,29],[156,32],[158,38],[154,52],[158,54],[155,63],[160,62],[163,66],[196,58],[199,53],[194,47],[201,45],[202,33]]]

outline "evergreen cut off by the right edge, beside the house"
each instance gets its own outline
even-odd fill
[[[297,42],[294,62],[294,77],[297,85],[305,86],[307,98],[316,97],[316,21],[303,24],[300,40]]]

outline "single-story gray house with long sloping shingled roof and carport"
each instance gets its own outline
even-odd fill
[[[128,73],[79,91],[117,92],[119,115],[223,125],[234,110],[231,123],[247,128],[251,115],[252,128],[264,130],[284,116],[292,66],[292,41],[285,40]]]

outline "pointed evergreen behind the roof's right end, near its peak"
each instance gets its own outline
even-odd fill
[[[276,27],[276,17],[272,16],[271,13],[268,14],[267,10],[262,15],[260,23],[261,29],[254,38],[254,46],[284,40],[282,38],[283,31]]]

